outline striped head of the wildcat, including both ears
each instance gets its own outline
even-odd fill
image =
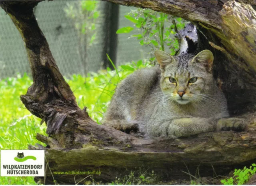
[[[186,105],[200,103],[207,97],[214,83],[212,52],[204,50],[195,57],[186,54],[174,58],[163,51],[157,51],[155,55],[162,70],[161,88],[170,100]]]

